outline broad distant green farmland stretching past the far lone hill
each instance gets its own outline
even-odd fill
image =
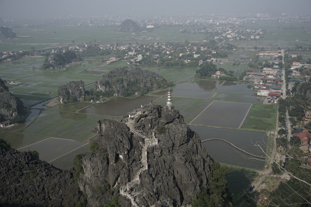
[[[17,36],[24,36],[20,39],[2,41],[2,51],[21,51],[36,49],[62,47],[66,44],[76,45],[93,42],[100,43],[148,43],[148,42],[184,42],[199,41],[207,39],[206,34],[185,34],[179,30],[185,27],[161,27],[154,32],[141,34],[130,34],[115,31],[119,27],[79,27],[79,26],[57,26],[33,28],[16,28],[13,31]],[[151,39],[146,40],[146,37]]]

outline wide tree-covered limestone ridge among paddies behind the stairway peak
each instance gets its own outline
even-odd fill
[[[112,90],[113,92],[109,94],[116,96],[130,96],[136,92],[144,94],[150,90],[166,87],[167,81],[161,75],[138,67],[131,70],[124,68],[111,70],[95,81],[95,90],[103,92]]]

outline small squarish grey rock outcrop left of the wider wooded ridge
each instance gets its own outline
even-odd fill
[[[58,88],[58,99],[60,103],[84,101],[84,93],[84,82],[82,80],[70,81]]]

